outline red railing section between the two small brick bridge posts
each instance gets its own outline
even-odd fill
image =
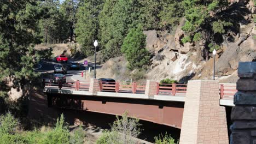
[[[145,93],[146,83],[126,83],[100,81],[102,92]]]

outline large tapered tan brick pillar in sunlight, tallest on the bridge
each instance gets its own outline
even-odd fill
[[[180,144],[229,143],[225,107],[219,105],[218,81],[189,81]]]

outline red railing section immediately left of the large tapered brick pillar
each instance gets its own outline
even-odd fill
[[[185,84],[167,84],[156,83],[156,95],[176,95],[185,94],[187,92],[187,85]]]

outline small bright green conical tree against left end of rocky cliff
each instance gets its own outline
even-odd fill
[[[145,47],[146,35],[143,34],[142,29],[130,29],[121,46],[121,52],[125,53],[130,69],[142,68],[143,65],[149,64],[150,53]]]

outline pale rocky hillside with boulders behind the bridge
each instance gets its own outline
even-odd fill
[[[238,31],[229,31],[223,36],[221,49],[216,56],[216,79],[220,82],[236,82],[238,62],[255,61],[256,59],[256,30],[254,17],[255,7],[253,1],[231,1],[226,9],[238,26]],[[205,61],[202,55],[202,45],[199,43],[182,43],[185,33],[182,31],[185,19],[181,19],[180,25],[170,31],[144,31],[147,35],[147,49],[152,53],[151,64],[146,72],[147,79],[160,81],[170,78],[179,82],[190,79],[212,79],[213,57]],[[125,61],[123,57],[112,58],[98,71],[100,77],[112,77],[113,79],[124,79],[128,73],[125,72]],[[113,68],[118,67],[118,68]],[[123,77],[117,75],[124,74]],[[104,73],[108,71],[108,73]],[[131,71],[133,74],[136,71]],[[129,74],[128,74],[129,75]]]

